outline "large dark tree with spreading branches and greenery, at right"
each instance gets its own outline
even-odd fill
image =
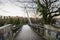
[[[35,0],[34,2],[37,4],[37,12],[43,16],[45,23],[51,24],[53,17],[60,15],[59,0]]]

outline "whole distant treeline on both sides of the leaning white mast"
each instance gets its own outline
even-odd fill
[[[42,23],[42,20],[39,18],[30,18],[31,22],[33,24],[39,24]],[[19,16],[0,16],[0,26],[6,25],[6,24],[13,24],[13,25],[19,25],[19,24],[28,24],[28,19],[26,17],[19,17]]]

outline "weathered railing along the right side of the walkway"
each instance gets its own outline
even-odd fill
[[[60,40],[60,28],[51,25],[31,25],[31,27],[46,40]]]

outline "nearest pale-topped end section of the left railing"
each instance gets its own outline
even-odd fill
[[[0,40],[10,40],[12,37],[12,25],[8,24],[0,27]]]

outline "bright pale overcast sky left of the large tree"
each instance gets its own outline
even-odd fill
[[[0,15],[3,16],[23,16],[26,17],[27,14],[24,10],[24,8],[21,8],[19,6],[24,6],[24,4],[27,5],[27,3],[19,3],[17,0],[0,0]],[[31,1],[31,0],[20,0],[20,1]],[[34,4],[33,4],[34,5]],[[32,4],[30,3],[27,6],[32,6]],[[35,5],[34,5],[35,7]],[[29,9],[28,9],[29,10]],[[33,16],[33,9],[30,9],[30,11],[28,11],[29,16]]]

